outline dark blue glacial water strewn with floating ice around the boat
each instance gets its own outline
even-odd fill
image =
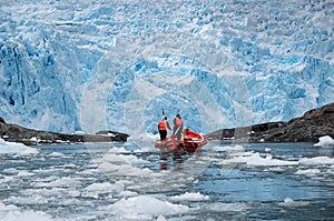
[[[31,149],[30,149],[31,150]],[[0,220],[331,220],[334,149],[89,143],[0,153]]]

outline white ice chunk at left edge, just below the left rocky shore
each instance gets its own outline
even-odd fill
[[[23,143],[17,142],[7,142],[0,138],[0,154],[3,153],[13,153],[19,155],[26,154],[37,154],[38,150],[35,148],[30,148],[24,145]]]

